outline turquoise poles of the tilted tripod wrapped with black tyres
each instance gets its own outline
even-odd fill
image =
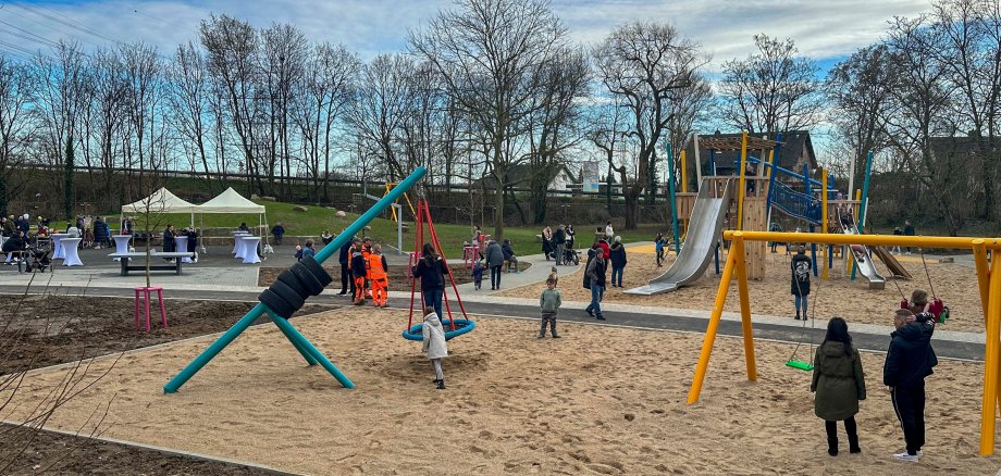
[[[407,190],[409,190],[411,187],[417,185],[417,183],[421,178],[424,177],[425,173],[428,173],[427,168],[417,167],[417,170],[415,170],[413,173],[411,173],[407,178],[400,181],[399,185],[397,185],[392,190],[390,190],[390,192],[386,193],[381,200],[375,202],[375,204],[372,205],[371,209],[369,209],[361,216],[359,216],[358,220],[355,221],[355,223],[351,223],[350,226],[345,228],[341,235],[337,235],[337,237],[334,238],[334,240],[330,245],[323,247],[319,252],[317,252],[316,256],[313,258],[322,264],[324,261],[326,261],[328,258],[330,258],[335,252],[339,251],[341,247],[343,247],[344,243],[350,240],[358,231],[361,231],[361,229],[364,228],[364,226],[368,225],[369,222],[371,222],[380,213],[382,213],[383,210],[390,206],[390,204],[395,202],[396,199],[398,199],[400,196],[406,193]],[[180,389],[181,386],[183,386],[189,378],[191,378],[195,374],[197,374],[198,371],[201,369],[201,367],[203,367],[207,363],[209,363],[209,361],[211,361],[215,355],[218,355],[219,352],[222,352],[222,350],[225,349],[226,346],[230,345],[230,342],[236,339],[236,336],[239,336],[240,333],[243,333],[244,330],[247,330],[247,327],[250,327],[250,324],[254,324],[254,322],[257,321],[258,317],[263,315],[267,310],[268,308],[262,303],[258,303],[257,305],[255,305],[254,309],[251,309],[250,312],[248,312],[247,315],[245,315],[243,318],[237,321],[236,324],[234,324],[233,327],[230,328],[230,330],[226,330],[225,334],[223,334],[222,336],[219,337],[219,339],[212,342],[212,345],[209,346],[208,349],[206,349],[200,354],[198,354],[198,356],[195,358],[195,360],[191,361],[191,363],[189,363],[186,367],[184,367],[181,371],[181,373],[175,375],[174,378],[171,378],[171,380],[168,381],[166,385],[163,386],[163,392],[164,393],[176,392],[177,389]],[[322,356],[323,354],[317,351],[317,349],[311,343],[309,343],[309,341],[307,341],[306,338],[302,337],[302,335],[299,334],[298,330],[295,330],[295,328],[292,327],[291,325],[287,328],[285,328],[284,326],[279,324],[279,327],[282,327],[282,330],[284,331],[287,331],[291,328],[293,330],[293,334],[292,334],[293,337],[298,336],[298,339],[301,339],[298,342],[297,348],[298,346],[304,347],[307,353],[311,354],[317,361],[320,362],[320,364],[323,364],[323,367],[326,368],[328,372],[333,374],[334,377],[337,378],[337,380],[339,380],[342,385],[344,385],[347,388],[353,388],[355,386],[343,374],[338,376],[338,374],[341,374],[341,371],[338,371],[337,367],[331,364],[330,361],[328,361],[325,356]],[[296,345],[296,339],[289,339],[289,340],[293,341],[293,345]],[[302,346],[304,342],[308,346]],[[300,349],[300,351],[302,349]],[[317,358],[317,355],[320,355],[322,359]]]

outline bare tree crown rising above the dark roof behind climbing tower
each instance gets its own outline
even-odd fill
[[[808,128],[820,120],[816,63],[784,41],[754,36],[757,53],[724,64],[719,82],[722,120],[752,134],[775,134]]]

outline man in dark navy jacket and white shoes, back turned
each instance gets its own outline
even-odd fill
[[[893,326],[897,330],[890,334],[882,383],[890,387],[890,399],[906,443],[906,451],[893,458],[917,463],[925,446],[925,377],[938,365],[931,349],[935,316],[928,313],[915,316],[906,309],[899,309],[893,315]]]

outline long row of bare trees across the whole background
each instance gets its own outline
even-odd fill
[[[572,164],[576,181],[621,186],[633,227],[641,202],[657,202],[667,142],[678,153],[700,127],[773,137],[824,123],[848,148],[821,158],[841,176],[843,159],[873,151],[957,230],[993,218],[997,202],[999,10],[938,2],[827,77],[791,40],[758,35],[757,51],[725,62],[715,83],[702,46],[670,24],[622,24],[579,45],[543,0],[459,0],[409,32],[406,51],[371,61],[293,25],[227,15],[170,52],[60,41],[0,55],[0,212],[39,192],[15,176],[29,164],[88,167],[84,183],[40,190],[65,197],[66,214],[74,187],[100,191],[108,209],[135,199],[144,190],[122,185],[132,173],[121,170],[221,174],[205,179],[210,192],[227,173],[250,174],[256,193],[279,197],[292,187],[283,177],[302,176],[319,203],[332,178],[395,181],[422,165],[429,189],[480,187],[502,236],[512,189],[529,190],[528,221],[545,223],[547,188]],[[976,139],[972,154],[936,153],[935,137],[956,134]]]

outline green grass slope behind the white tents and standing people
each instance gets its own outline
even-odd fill
[[[274,226],[274,224],[281,223],[282,226],[285,227],[286,242],[295,241],[296,238],[294,237],[297,236],[316,238],[319,237],[323,230],[328,229],[336,234],[358,218],[358,215],[353,213],[348,213],[345,217],[337,217],[334,210],[325,209],[322,206],[308,206],[306,212],[297,212],[293,210],[293,208],[296,206],[293,203],[263,200],[255,200],[255,202],[267,206],[269,225]],[[116,214],[109,214],[108,216],[115,215]],[[406,215],[409,215],[409,213],[406,213]],[[410,220],[405,221],[405,223],[410,225],[410,229],[404,233],[405,251],[413,249],[415,229],[412,217],[409,218]],[[187,227],[190,221],[191,218],[189,214],[169,213],[152,218],[151,224],[153,225],[153,229],[162,230],[166,224],[172,224],[175,228]],[[116,220],[112,218],[112,225],[114,227],[118,226],[118,223],[115,222]],[[250,227],[257,226],[258,215],[208,214],[195,216],[195,226],[206,229],[236,228],[240,223],[246,223]],[[367,236],[371,236],[379,242],[388,243],[393,247],[396,246],[395,222],[392,220],[375,218],[369,224],[369,226],[371,227],[371,230],[364,231]],[[591,245],[594,234],[594,226],[577,227],[577,246],[579,248]],[[136,218],[135,229],[140,230],[144,228],[145,224],[143,217],[139,216]],[[622,241],[625,242],[651,241],[658,230],[663,231],[665,235],[668,235],[668,228],[669,226],[643,225],[639,229],[628,231],[620,230],[617,234],[622,237]],[[434,229],[437,233],[442,247],[446,250],[446,256],[461,258],[462,242],[470,240],[472,237],[472,228],[468,225],[435,224]],[[484,226],[483,231],[492,234],[493,227],[487,224]],[[511,245],[515,248],[516,254],[535,254],[542,252],[542,245],[535,241],[535,236],[540,235],[541,233],[542,227],[506,227],[504,229],[504,237],[511,240]],[[227,236],[227,234],[224,234],[224,236]],[[424,237],[425,241],[430,241],[431,237],[427,228],[424,231]]]

